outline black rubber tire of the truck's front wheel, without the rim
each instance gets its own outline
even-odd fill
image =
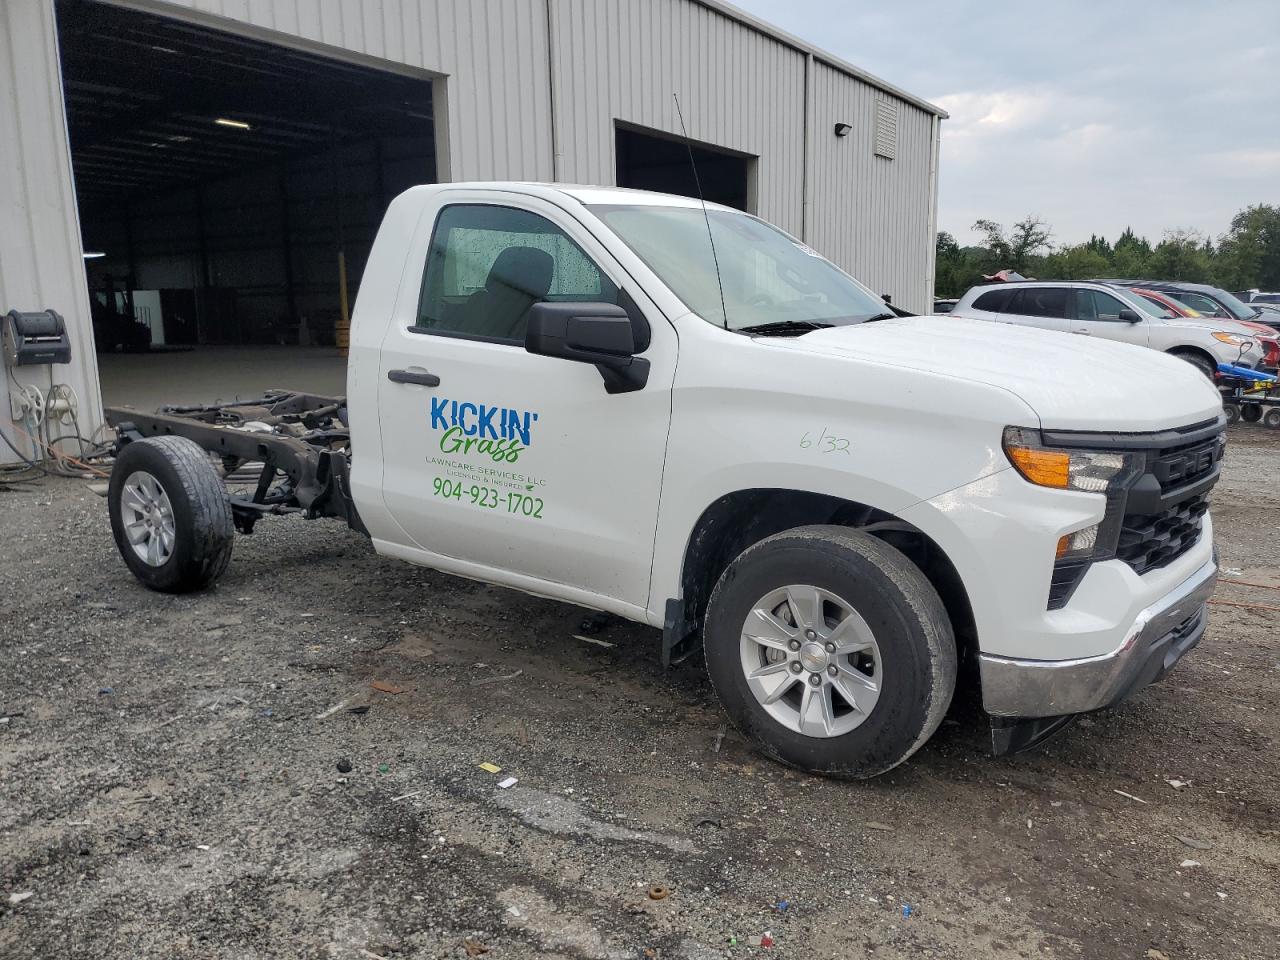
[[[879,699],[838,736],[788,728],[748,685],[746,617],[760,598],[792,584],[842,598],[879,648]],[[746,549],[716,585],[703,635],[712,686],[733,724],[769,756],[814,773],[865,778],[892,769],[933,735],[955,691],[955,635],[937,591],[899,550],[850,527],[796,527]]]

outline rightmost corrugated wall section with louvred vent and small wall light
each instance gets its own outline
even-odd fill
[[[932,114],[897,109],[893,160],[876,156],[874,87],[822,63],[814,64],[813,214],[809,243],[877,293],[905,310],[924,311],[932,297]],[[836,123],[851,125],[836,137]]]

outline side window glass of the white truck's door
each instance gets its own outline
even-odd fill
[[[541,301],[617,303],[618,288],[544,216],[488,204],[440,211],[413,329],[524,344]]]

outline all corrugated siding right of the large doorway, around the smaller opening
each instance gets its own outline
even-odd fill
[[[140,4],[133,4],[140,5]],[[150,0],[448,76],[451,179],[613,183],[614,122],[759,156],[755,209],[911,310],[928,306],[933,116],[814,60],[812,223],[803,230],[805,54],[691,0]],[[873,156],[878,101],[896,157]],[[831,134],[837,120],[849,137]],[[876,163],[872,163],[872,161]]]

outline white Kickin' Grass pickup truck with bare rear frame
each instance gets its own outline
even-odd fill
[[[1193,367],[892,316],[684,197],[410,189],[346,398],[109,417],[111,527],[147,586],[215,580],[233,526],[340,517],[379,553],[658,627],[668,662],[700,648],[744,733],[831,774],[910,756],[957,682],[997,751],[1116,703],[1201,639],[1215,581],[1224,416]]]

